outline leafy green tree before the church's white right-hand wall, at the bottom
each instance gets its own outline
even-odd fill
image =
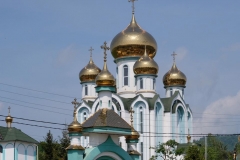
[[[162,157],[163,160],[176,160],[177,156],[180,156],[184,152],[184,148],[177,148],[178,143],[175,140],[168,140],[166,143],[159,143],[154,149],[156,155],[152,156],[150,160],[156,160],[157,157]]]

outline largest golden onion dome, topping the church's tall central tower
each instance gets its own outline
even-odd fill
[[[157,52],[157,42],[137,24],[132,14],[128,27],[113,38],[111,53],[114,58],[140,57],[144,54],[144,46],[147,47],[149,56],[153,58]]]

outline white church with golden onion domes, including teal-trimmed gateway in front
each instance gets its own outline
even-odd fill
[[[94,64],[91,54],[79,73],[82,101],[72,102],[69,160],[148,160],[154,155],[149,148],[159,143],[169,139],[187,143],[187,134],[193,132],[192,111],[184,100],[187,78],[174,60],[162,80],[166,94],[156,92],[157,42],[138,25],[134,10],[127,28],[112,39],[110,47],[105,42],[101,48],[103,69]],[[108,50],[116,77],[107,68]]]

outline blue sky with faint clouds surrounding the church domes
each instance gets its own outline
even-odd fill
[[[187,76],[185,101],[193,111],[194,133],[240,133],[240,1],[135,2],[137,23],[157,41],[157,92],[171,68],[171,54]],[[80,70],[93,60],[102,68],[103,51],[131,20],[127,0],[0,1],[0,115],[61,124],[72,121],[81,101]],[[108,52],[108,66],[116,64]],[[5,117],[1,116],[0,120]],[[64,128],[22,119],[14,122]],[[0,121],[5,126],[4,121]],[[13,123],[36,140],[49,128]],[[54,138],[61,130],[50,129]]]

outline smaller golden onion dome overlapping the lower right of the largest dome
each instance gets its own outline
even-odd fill
[[[148,56],[145,49],[144,55],[133,66],[135,74],[157,74],[158,64]]]

